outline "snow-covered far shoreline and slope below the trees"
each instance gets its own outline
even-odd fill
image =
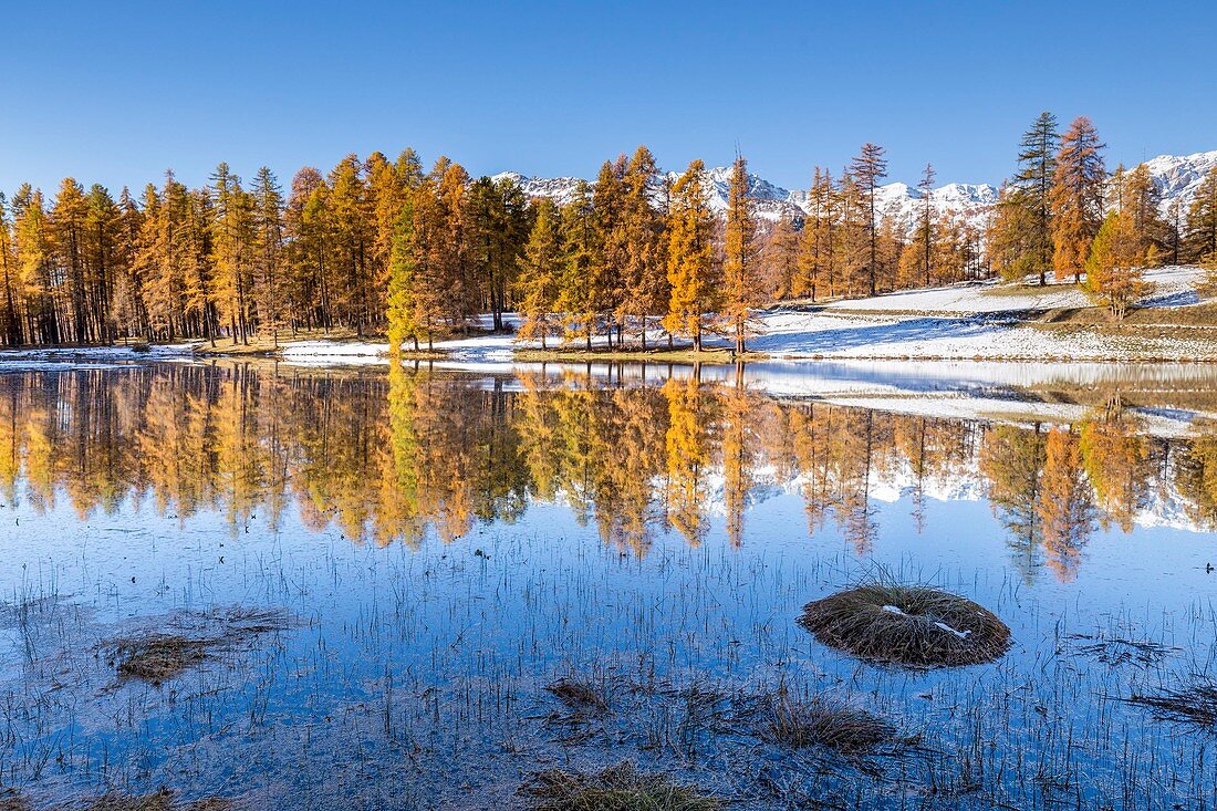
[[[748,348],[755,359],[768,360],[950,360],[1021,363],[1134,363],[1217,362],[1217,324],[1179,319],[1200,303],[1198,268],[1160,268],[1146,274],[1150,292],[1142,306],[1162,315],[1162,323],[1128,325],[1069,324],[1033,320],[1034,314],[1089,306],[1072,284],[1047,287],[1009,287],[993,283],[954,285],[886,293],[871,298],[818,306],[778,306],[758,313],[757,335]],[[507,315],[516,326],[518,317]],[[1118,326],[1118,329],[1117,329]],[[657,345],[663,336],[656,331]],[[604,348],[605,339],[595,343]],[[46,363],[138,362],[185,359],[198,343],[131,347],[79,347],[0,351],[0,368]],[[725,347],[708,340],[710,347]],[[437,341],[434,352],[445,364],[518,365],[516,352],[540,348],[537,341],[517,341],[512,334],[484,334]],[[551,345],[553,348],[553,345]],[[562,349],[578,353],[582,346]],[[223,356],[223,352],[219,353]],[[286,341],[276,357],[295,365],[387,364],[385,341]],[[208,354],[208,357],[215,357]],[[647,359],[645,356],[640,360]],[[595,354],[588,357],[595,363]],[[660,362],[666,363],[663,358]]]

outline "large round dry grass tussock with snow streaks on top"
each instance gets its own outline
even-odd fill
[[[873,662],[976,665],[1010,647],[1010,628],[996,614],[930,586],[864,583],[808,603],[798,622],[824,644]]]

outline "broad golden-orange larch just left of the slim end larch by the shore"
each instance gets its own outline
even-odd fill
[[[668,284],[672,297],[663,328],[692,339],[701,351],[706,314],[718,306],[720,284],[714,263],[714,213],[710,207],[706,166],[689,164],[672,186],[668,212]]]

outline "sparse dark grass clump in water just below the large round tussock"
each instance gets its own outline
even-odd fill
[[[830,698],[801,701],[780,690],[767,697],[763,706],[761,736],[790,749],[825,746],[842,755],[864,755],[907,743],[891,722]]]

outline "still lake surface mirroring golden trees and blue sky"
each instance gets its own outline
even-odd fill
[[[1217,807],[1212,733],[1123,700],[1217,677],[1217,373],[968,419],[774,393],[797,368],[584,371],[0,375],[0,785],[526,807],[539,770],[633,760],[740,809]],[[908,671],[796,625],[868,577],[1015,644]],[[116,667],[167,633],[207,647]],[[739,711],[778,688],[918,740],[783,749]]]

